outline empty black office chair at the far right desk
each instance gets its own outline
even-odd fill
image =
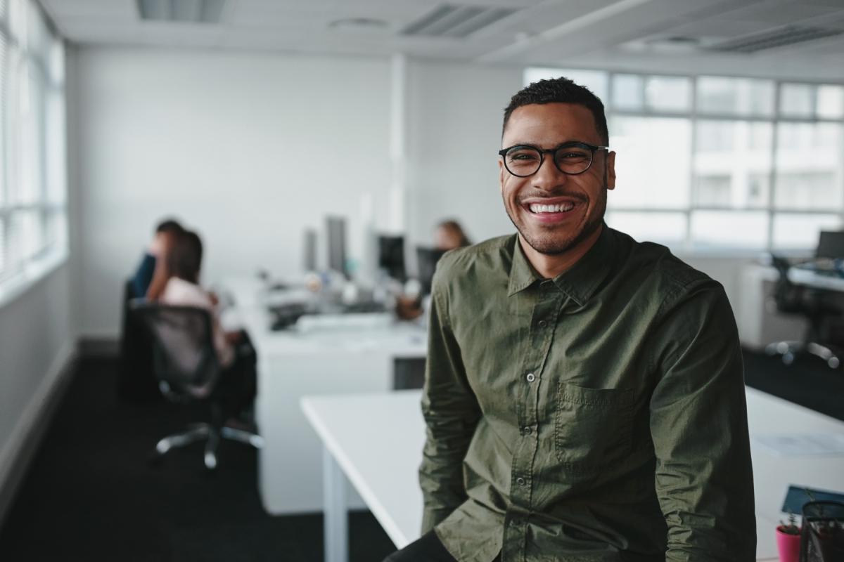
[[[772,296],[776,311],[800,314],[809,320],[809,327],[802,341],[777,341],[766,346],[766,353],[782,356],[782,362],[786,365],[791,365],[794,358],[800,354],[809,354],[820,357],[832,369],[838,368],[841,365],[841,353],[830,345],[821,345],[818,342],[826,320],[839,316],[841,310],[822,302],[818,292],[810,287],[795,285],[789,281],[788,270],[791,264],[785,258],[771,255],[771,264],[779,273]]]

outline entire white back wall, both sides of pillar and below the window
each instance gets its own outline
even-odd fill
[[[387,59],[95,47],[73,59],[82,335],[116,336],[122,281],[160,217],[203,235],[207,283],[294,274],[302,229],[327,213],[351,219],[360,257],[365,193],[376,227],[389,224]],[[445,217],[475,241],[513,232],[495,153],[521,67],[411,59],[407,71],[411,244],[431,244]],[[690,261],[734,298],[746,260]]]

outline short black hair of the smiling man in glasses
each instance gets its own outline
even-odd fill
[[[603,103],[598,96],[586,86],[576,84],[565,77],[539,80],[522,88],[510,99],[510,104],[504,109],[504,125],[501,126],[501,136],[507,127],[510,115],[522,105],[530,104],[578,104],[592,112],[595,127],[601,142],[609,145],[609,131],[607,131],[607,116],[603,113]]]

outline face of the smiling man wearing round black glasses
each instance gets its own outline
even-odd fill
[[[577,104],[529,104],[511,113],[501,147],[549,149],[572,141],[604,144],[591,111]],[[541,254],[563,254],[594,233],[607,209],[607,190],[615,187],[614,161],[615,153],[599,150],[586,172],[566,175],[545,154],[536,174],[520,178],[500,159],[501,197],[522,239]]]

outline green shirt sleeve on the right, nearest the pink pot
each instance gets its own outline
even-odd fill
[[[744,372],[733,311],[714,281],[663,322],[652,394],[656,490],[668,561],[750,562],[756,529]]]

